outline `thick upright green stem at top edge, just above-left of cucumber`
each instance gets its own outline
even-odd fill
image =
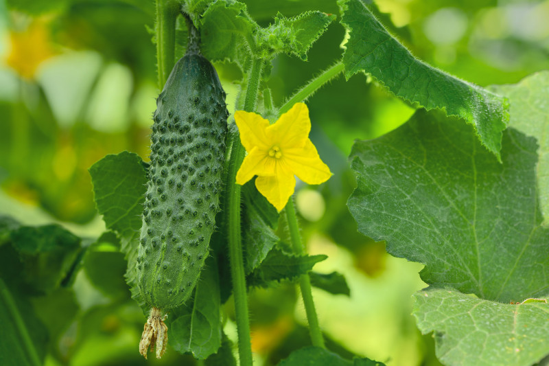
[[[156,66],[159,88],[162,89],[174,68],[176,47],[176,18],[179,4],[174,0],[156,0]]]

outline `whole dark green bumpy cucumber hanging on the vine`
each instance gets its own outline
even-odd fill
[[[191,295],[219,211],[228,111],[211,63],[187,54],[156,100],[137,256],[141,295],[163,311]]]

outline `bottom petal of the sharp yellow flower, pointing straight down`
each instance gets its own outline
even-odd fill
[[[294,193],[296,179],[294,174],[284,168],[281,161],[278,161],[277,174],[275,176],[258,176],[255,180],[255,187],[280,212],[288,203],[288,198]]]

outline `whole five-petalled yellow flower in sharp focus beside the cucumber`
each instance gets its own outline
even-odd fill
[[[235,122],[248,152],[236,174],[236,183],[243,185],[257,175],[257,190],[278,211],[294,193],[294,174],[309,184],[324,183],[331,176],[309,139],[311,121],[304,103],[294,104],[274,124],[245,111],[236,111]]]

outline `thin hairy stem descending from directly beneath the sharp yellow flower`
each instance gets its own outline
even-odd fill
[[[305,249],[303,249],[303,243],[301,242],[299,224],[297,222],[296,210],[294,208],[294,201],[292,201],[292,198],[290,198],[290,201],[286,204],[285,211],[286,218],[288,218],[288,229],[290,230],[290,238],[292,239],[294,253],[297,255],[303,255],[303,253],[305,253]],[[308,274],[301,275],[301,277],[299,277],[299,287],[301,288],[301,297],[303,297],[303,304],[305,305],[305,312],[307,313],[311,341],[316,347],[324,347],[324,339],[322,332],[320,331],[318,317],[316,316],[316,310],[314,308],[313,295],[311,291],[311,279]]]

